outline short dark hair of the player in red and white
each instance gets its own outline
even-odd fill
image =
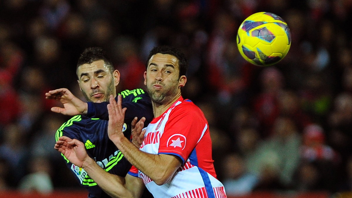
[[[187,73],[187,68],[188,68],[188,61],[186,58],[186,55],[184,55],[179,49],[170,47],[167,45],[162,45],[158,47],[154,47],[148,55],[147,61],[145,63],[146,68],[148,67],[148,63],[150,58],[155,55],[155,54],[169,54],[172,56],[175,56],[178,59],[178,68],[180,70],[180,74],[178,77],[181,77],[182,75],[186,75]]]

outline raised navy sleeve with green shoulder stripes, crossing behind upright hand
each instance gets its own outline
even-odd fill
[[[131,123],[134,117],[138,117],[138,119],[145,117],[145,123],[149,123],[153,119],[151,99],[143,89],[125,90],[119,93],[119,95],[122,95],[122,108],[127,108],[125,122]],[[115,100],[117,100],[117,97]],[[108,104],[109,102],[88,102],[87,116],[108,120]]]

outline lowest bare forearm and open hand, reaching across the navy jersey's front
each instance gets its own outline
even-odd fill
[[[132,193],[124,186],[125,178],[110,174],[102,169],[84,148],[84,144],[66,136],[59,137],[56,150],[60,151],[71,163],[83,168],[102,189],[111,197],[132,198]]]

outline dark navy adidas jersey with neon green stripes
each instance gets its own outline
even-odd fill
[[[145,126],[153,118],[151,99],[143,89],[125,90],[122,95],[122,107],[127,107],[125,123],[122,131],[125,137],[131,138],[131,122],[134,117],[145,117]],[[117,100],[117,98],[115,98]],[[56,132],[56,141],[60,136],[67,136],[84,143],[86,151],[105,171],[125,177],[131,168],[121,151],[109,139],[108,102],[88,103],[87,115],[77,115],[65,122]],[[63,155],[62,155],[63,156]],[[68,168],[76,176],[82,186],[89,191],[88,197],[109,197],[84,169],[70,163],[65,157]]]

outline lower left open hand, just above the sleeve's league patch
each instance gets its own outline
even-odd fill
[[[54,148],[78,167],[83,167],[84,161],[89,158],[83,142],[66,136],[59,137]]]

